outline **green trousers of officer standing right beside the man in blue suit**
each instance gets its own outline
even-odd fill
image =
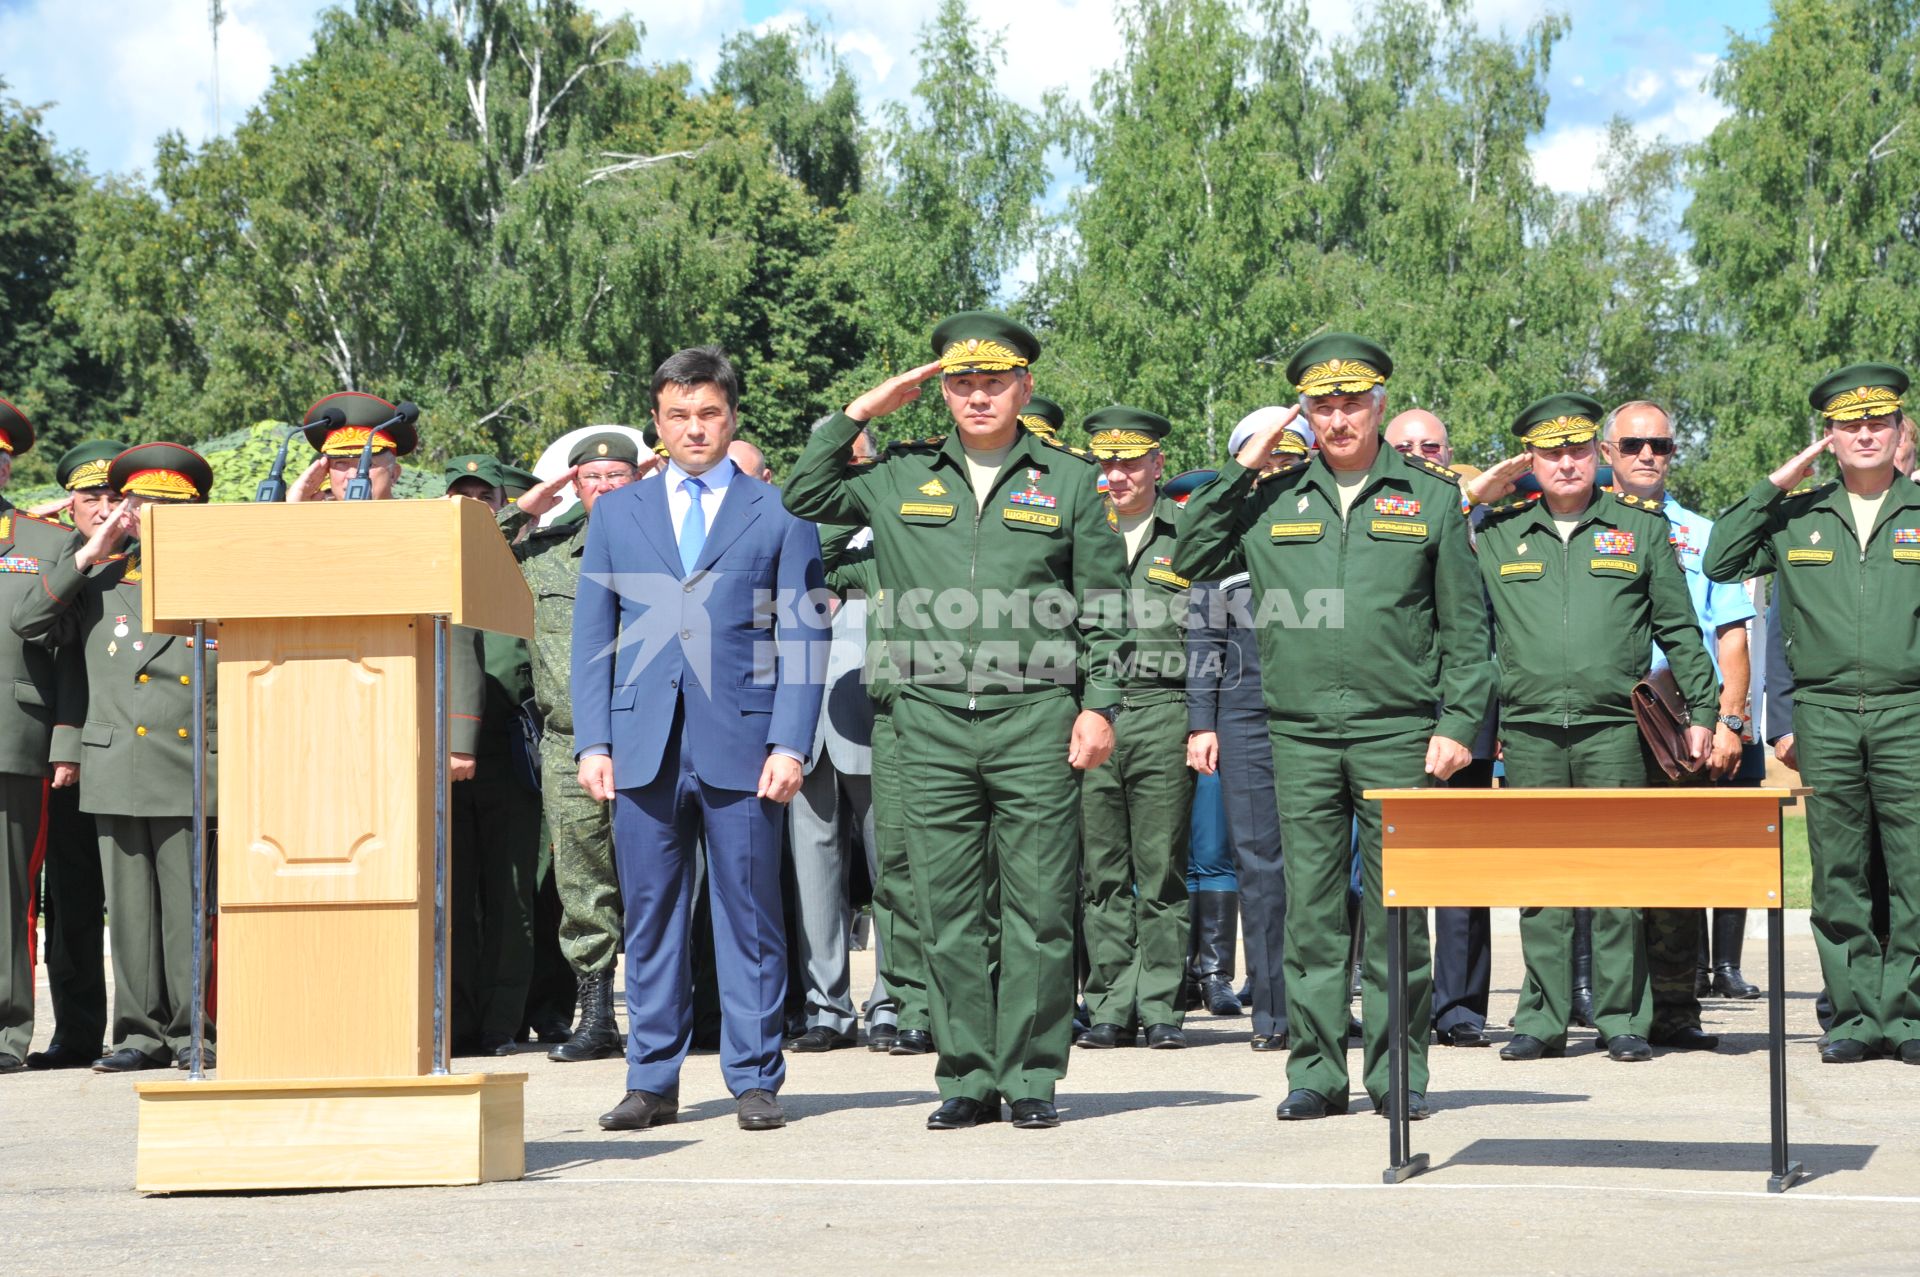
[[[1066,695],[968,711],[908,693],[893,707],[899,776],[914,785],[908,860],[925,924],[941,1098],[1052,1100],[1068,1072],[1081,782],[1068,741],[1077,712]]]

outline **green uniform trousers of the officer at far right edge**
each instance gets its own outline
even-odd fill
[[[1793,732],[1812,851],[1812,937],[1834,1000],[1828,1033],[1872,1048],[1920,1039],[1920,705],[1864,712],[1799,701]],[[1874,935],[1872,831],[1887,864],[1887,943]]]

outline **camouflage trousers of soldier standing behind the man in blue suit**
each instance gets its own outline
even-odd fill
[[[540,801],[553,835],[553,887],[561,897],[561,952],[582,976],[611,972],[620,952],[620,878],[612,864],[612,803],[580,787],[574,737],[540,737]]]

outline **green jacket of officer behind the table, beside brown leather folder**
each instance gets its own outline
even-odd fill
[[[1605,492],[1594,494],[1569,542],[1546,501],[1488,509],[1478,547],[1494,601],[1501,722],[1634,722],[1632,689],[1659,641],[1693,726],[1715,724],[1713,663],[1670,534],[1657,505]]]

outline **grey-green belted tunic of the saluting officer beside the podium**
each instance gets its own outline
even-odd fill
[[[63,674],[84,670],[81,687],[61,691],[79,712],[56,724],[52,760],[81,766],[83,812],[192,816],[196,695],[207,705],[207,803],[217,793],[217,651],[207,651],[207,686],[194,687],[194,639],[140,626],[140,545],[81,570],[73,557],[83,545],[71,538],[40,588],[13,605],[15,634],[73,647],[79,663]]]

